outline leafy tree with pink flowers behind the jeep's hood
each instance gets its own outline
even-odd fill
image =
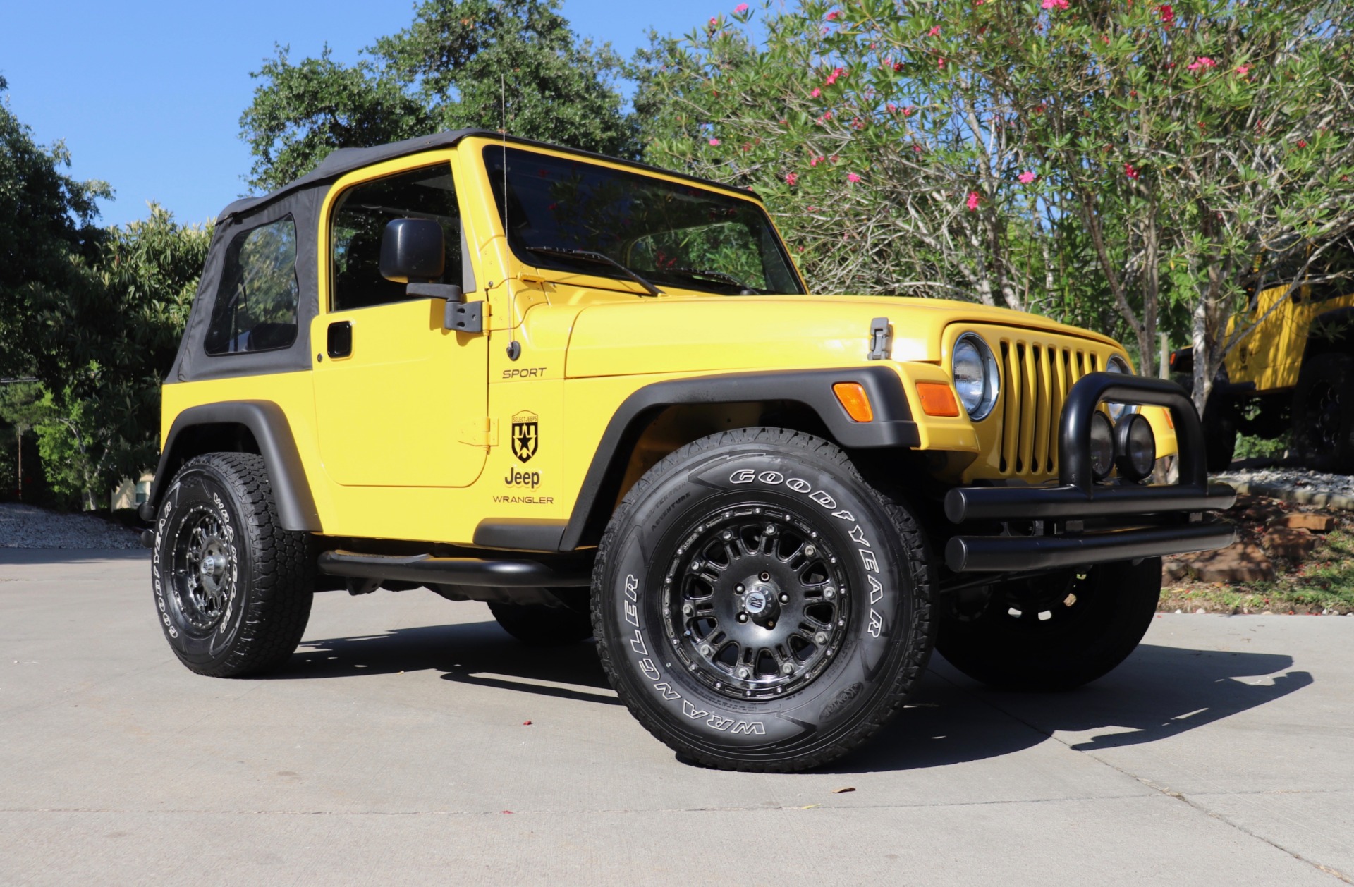
[[[1202,408],[1247,284],[1312,282],[1354,222],[1351,7],[803,3],[762,42],[751,15],[639,60],[647,156],[761,191],[818,288],[1098,318],[1144,372],[1187,329]]]

